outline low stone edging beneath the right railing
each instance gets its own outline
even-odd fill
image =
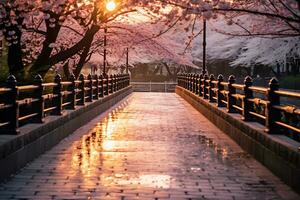
[[[271,135],[256,122],[244,122],[240,115],[227,113],[190,91],[177,86],[176,93],[200,111],[245,151],[300,193],[299,143],[283,135]]]

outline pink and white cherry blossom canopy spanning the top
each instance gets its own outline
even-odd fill
[[[78,76],[86,62],[101,62],[96,58],[103,52],[101,30],[106,27],[113,40],[108,46],[112,63],[124,63],[123,49],[135,46],[134,50],[131,48],[132,63],[164,59],[168,63],[192,65],[188,49],[187,54],[181,54],[182,46],[184,39],[189,46],[202,33],[199,21],[203,18],[221,22],[211,31],[223,36],[209,35],[215,39],[213,44],[218,44],[210,46],[211,58],[230,57],[235,59],[233,65],[249,66],[255,62],[274,64],[282,62],[285,54],[299,54],[299,47],[292,45],[299,43],[300,36],[296,0],[116,0],[114,11],[105,9],[106,3],[1,1],[0,32],[8,45],[9,71],[23,73],[25,66],[30,66],[30,74],[45,76],[51,67],[70,65]],[[224,29],[224,23],[231,27]],[[253,38],[257,36],[277,39]]]

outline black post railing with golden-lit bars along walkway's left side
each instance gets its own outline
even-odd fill
[[[0,88],[0,134],[17,134],[18,128],[28,123],[43,123],[49,115],[62,115],[66,109],[84,106],[119,91],[130,84],[128,74],[92,76],[72,75],[68,81],[55,76],[54,82],[43,83],[40,75],[34,84],[18,86],[10,75],[7,87]]]

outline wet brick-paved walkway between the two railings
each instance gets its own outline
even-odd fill
[[[0,185],[0,199],[300,199],[176,94],[134,93]]]

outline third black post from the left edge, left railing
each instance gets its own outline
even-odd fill
[[[53,111],[54,115],[62,115],[62,103],[63,103],[63,96],[61,93],[62,85],[61,85],[61,76],[57,74],[54,78],[54,83],[56,86],[53,87],[53,95],[54,97],[54,106],[56,107]]]

